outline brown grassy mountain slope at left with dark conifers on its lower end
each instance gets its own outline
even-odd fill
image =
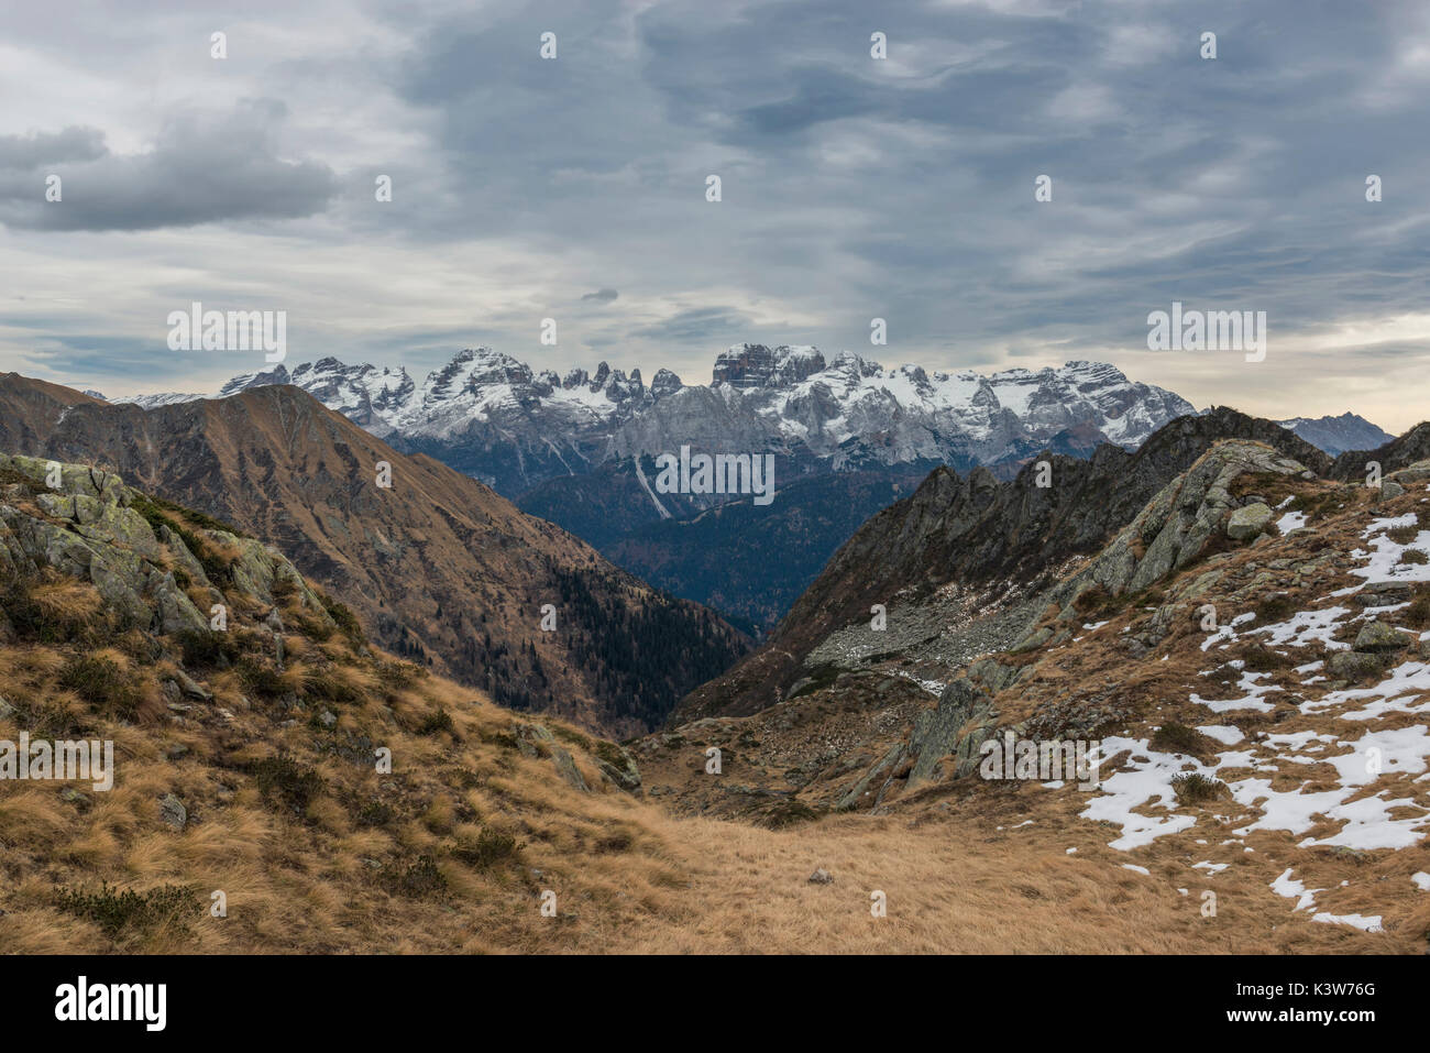
[[[748,645],[714,612],[297,388],[146,411],[7,373],[0,449],[116,469],[280,545],[380,645],[512,708],[629,735]]]

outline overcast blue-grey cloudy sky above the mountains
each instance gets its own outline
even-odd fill
[[[418,379],[751,341],[1430,416],[1423,0],[6,4],[0,99],[0,369],[107,395],[263,368],[167,349],[199,300]],[[1266,361],[1148,351],[1173,300]]]

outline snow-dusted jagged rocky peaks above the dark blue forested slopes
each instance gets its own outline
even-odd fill
[[[1068,452],[1101,441],[1135,448],[1175,416],[1195,412],[1173,392],[1128,381],[1117,368],[927,372],[885,368],[851,352],[832,361],[811,346],[742,343],[715,359],[709,385],[661,369],[649,386],[602,362],[563,376],[489,348],[458,353],[420,383],[406,369],[336,358],[292,371],[235,376],[216,393],[292,383],[369,432],[430,454],[516,495],[632,455],[681,445],[794,458],[797,474],[938,461],[967,469]],[[166,405],[206,395],[140,395]],[[789,466],[782,472],[789,478]]]

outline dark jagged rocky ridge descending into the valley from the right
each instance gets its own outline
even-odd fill
[[[1158,522],[1175,521],[1165,537],[1158,541],[1161,526],[1151,531],[1144,521],[1140,529],[1148,531],[1145,539],[1138,535],[1134,544],[1128,537],[1100,571],[1111,579],[1124,572],[1130,579],[1137,572],[1134,588],[1143,588],[1188,562],[1191,549],[1200,551],[1211,531],[1221,529],[1221,515],[1233,506],[1230,498],[1218,504],[1223,498],[1213,492],[1197,522],[1195,509],[1188,514],[1173,508],[1175,491],[1158,495],[1228,439],[1261,451],[1257,456],[1267,458],[1267,464],[1276,458],[1294,462],[1300,472],[1321,474],[1331,465],[1294,432],[1220,408],[1173,421],[1135,454],[1103,445],[1090,461],[1038,455],[1007,482],[984,468],[967,475],[938,468],[909,498],[865,522],[764,647],[682,700],[671,723],[749,714],[772,705],[789,684],[807,675],[807,657],[841,628],[867,622],[872,604],[892,609],[895,597],[918,604],[950,592],[970,595],[1000,582],[1035,584],[1060,572],[1071,558],[1101,552],[1108,538],[1147,511],[1148,502],[1161,501]],[[1253,469],[1236,469],[1231,476],[1240,471]],[[1213,482],[1198,475],[1191,485],[1195,489]],[[1148,551],[1143,567],[1143,557],[1133,549],[1144,547]],[[1183,549],[1188,551],[1184,558]],[[1041,642],[1054,635],[1050,632]]]

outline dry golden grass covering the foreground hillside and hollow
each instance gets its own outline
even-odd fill
[[[36,591],[56,618],[89,609],[84,589]],[[283,617],[300,624],[292,604]],[[1121,694],[1144,700],[1148,721],[1198,718],[1184,684],[1204,657],[1190,652],[1188,634],[1178,628],[1168,642],[1170,661],[1121,677]],[[0,783],[0,944],[19,953],[1288,954],[1423,953],[1430,931],[1430,894],[1410,880],[1430,871],[1423,843],[1343,856],[1258,831],[1223,846],[1216,834],[1237,807],[1210,801],[1193,830],[1120,853],[1107,846],[1113,831],[1080,818],[1084,795],[1035,784],[935,784],[905,794],[891,814],[784,830],[679,818],[609,783],[585,733],[543,720],[591,787],[581,793],[559,777],[549,748],[519,748],[516,725],[531,718],[388,655],[359,655],[342,634],[290,631],[285,641],[287,664],[267,694],[237,670],[210,670],[202,678],[214,700],[184,698],[190,708],[176,710],[159,690],[176,671],[172,648],[159,660],[127,645],[87,651],[137,681],[143,705],[132,720],[59,690],[76,647],[0,647],[0,695],[17,705],[0,720],[0,738],[14,738],[20,720],[31,734],[110,738],[119,765],[109,793]],[[1097,661],[1057,652],[1024,701],[1101,682],[1108,670]],[[1000,698],[1022,715],[1012,701]],[[335,727],[323,725],[323,711]],[[433,720],[439,711],[449,728]],[[390,775],[375,770],[378,747],[392,750]],[[296,804],[272,787],[265,795],[257,773],[285,761],[312,771],[320,788]],[[187,808],[182,831],[160,817],[169,794]],[[1226,868],[1210,876],[1194,867],[1201,861]],[[811,884],[817,867],[834,881]],[[1296,913],[1268,887],[1286,867],[1324,887],[1316,910],[1384,914],[1386,930]],[[57,887],[93,891],[104,881],[136,891],[190,886],[196,910],[109,934],[57,906]],[[226,917],[207,913],[216,890]],[[555,917],[541,910],[546,890]],[[887,917],[871,914],[875,891]],[[1214,916],[1204,914],[1207,891]]]

